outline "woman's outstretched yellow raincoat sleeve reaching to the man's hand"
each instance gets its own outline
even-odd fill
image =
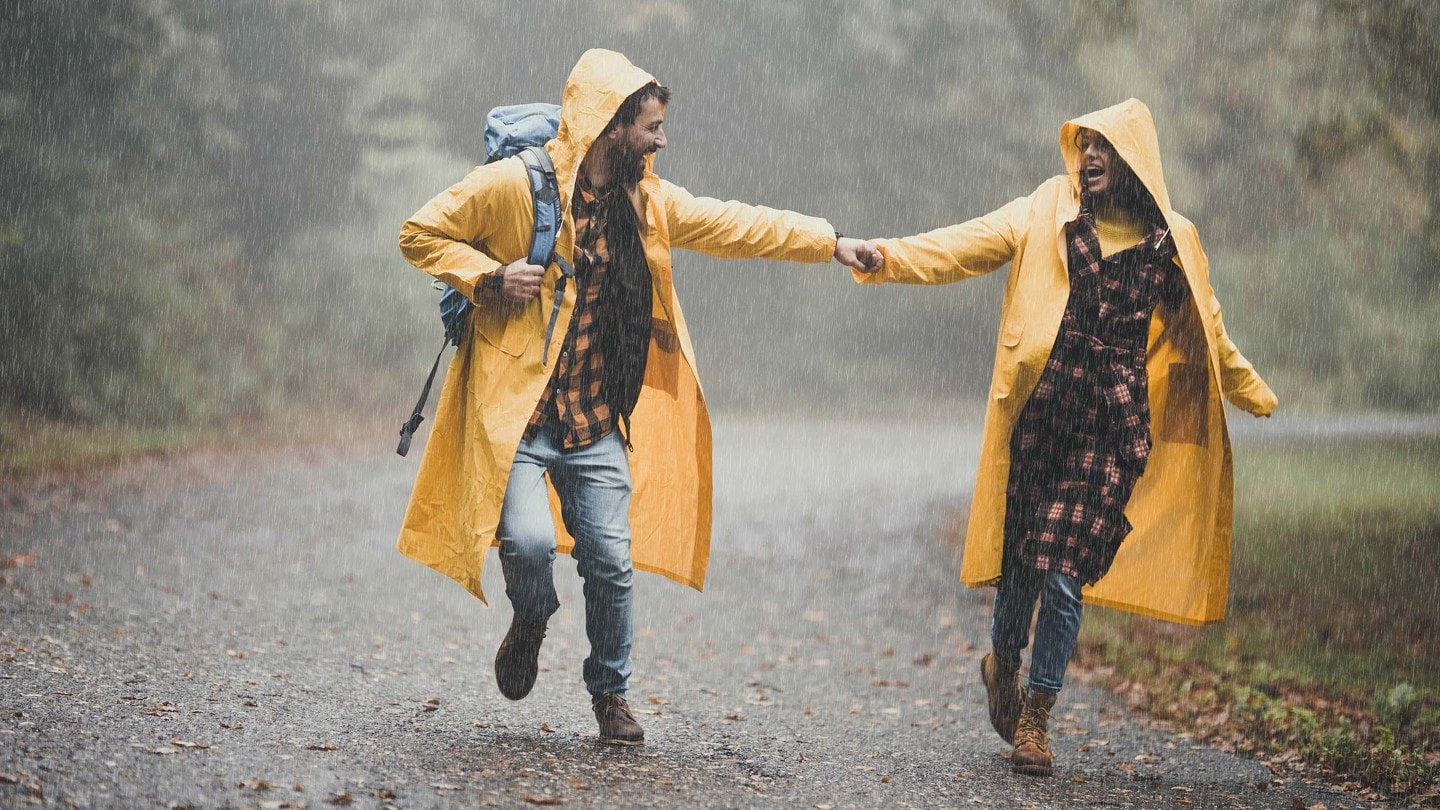
[[[880,272],[854,271],[861,284],[950,284],[994,272],[1015,258],[1030,218],[1030,197],[999,210],[904,239],[876,239],[886,257]]]

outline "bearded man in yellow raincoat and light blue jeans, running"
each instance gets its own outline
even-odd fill
[[[824,219],[694,197],[657,177],[668,99],[609,50],[586,52],[566,81],[560,131],[544,148],[564,212],[556,254],[576,278],[550,344],[560,268],[527,264],[533,215],[521,160],[472,170],[400,231],[405,257],[475,311],[399,548],[484,598],[481,565],[498,542],[514,617],[495,682],[513,700],[534,685],[559,608],[556,549],[573,549],[590,640],[585,685],[600,741],[621,745],[645,738],[625,702],[632,566],[700,588],[708,561],[710,421],[670,249],[857,268],[878,261]]]

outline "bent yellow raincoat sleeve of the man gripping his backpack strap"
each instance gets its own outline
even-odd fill
[[[464,180],[441,192],[400,226],[400,254],[406,261],[449,284],[471,301],[481,278],[500,262],[474,245],[494,229],[497,210],[510,195],[503,163],[478,166]],[[521,200],[523,203],[523,200]],[[524,205],[524,203],[523,203]]]

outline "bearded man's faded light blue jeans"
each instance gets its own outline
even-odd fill
[[[554,520],[544,476],[560,494],[572,555],[585,579],[585,686],[592,698],[625,696],[631,675],[629,458],[619,432],[579,450],[562,451],[557,425],[546,422],[521,441],[500,510],[500,562],[516,617],[544,624],[560,610],[554,592]]]

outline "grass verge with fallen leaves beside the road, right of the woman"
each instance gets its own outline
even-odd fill
[[[1440,440],[1237,448],[1228,617],[1092,610],[1081,666],[1292,770],[1440,794]]]

